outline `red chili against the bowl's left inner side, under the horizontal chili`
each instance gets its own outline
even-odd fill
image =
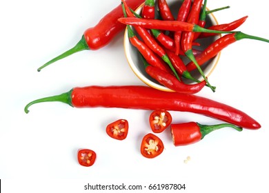
[[[130,26],[127,26],[128,28],[128,37],[130,40],[130,43],[139,50],[139,52],[143,55],[143,57],[146,59],[146,61],[161,70],[164,70],[166,72],[172,73],[170,68],[168,68],[168,65],[164,63],[162,59],[160,59],[150,48],[148,48],[148,45],[146,43],[143,43],[143,41],[139,40],[134,32],[132,32],[132,29]]]

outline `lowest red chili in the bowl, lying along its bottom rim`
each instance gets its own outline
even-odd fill
[[[154,66],[149,65],[146,60],[142,57],[143,63],[145,65],[145,71],[150,77],[155,79],[161,85],[166,86],[166,88],[170,88],[175,92],[183,93],[183,94],[195,94],[202,90],[202,88],[206,85],[205,81],[196,84],[186,84],[179,81],[172,74],[160,70]]]

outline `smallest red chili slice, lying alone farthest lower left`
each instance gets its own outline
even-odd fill
[[[93,150],[81,149],[77,152],[77,159],[80,165],[90,167],[95,162],[96,153]]]

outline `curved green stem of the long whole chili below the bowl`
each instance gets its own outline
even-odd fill
[[[66,103],[70,106],[73,106],[72,99],[71,99],[71,93],[72,93],[72,90],[70,90],[69,92],[64,92],[63,94],[59,94],[59,95],[55,95],[55,96],[48,96],[48,97],[45,97],[42,99],[34,100],[26,105],[26,107],[24,108],[24,112],[28,113],[29,112],[28,108],[31,105],[36,104],[36,103],[43,103],[43,102],[62,102],[62,103]]]

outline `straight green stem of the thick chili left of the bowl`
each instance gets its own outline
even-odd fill
[[[46,66],[50,65],[51,63],[54,63],[55,61],[58,61],[58,60],[63,59],[65,57],[68,57],[71,54],[74,54],[76,52],[80,52],[82,50],[90,50],[90,48],[88,47],[88,44],[86,42],[86,39],[84,38],[84,35],[82,36],[81,40],[77,43],[77,45],[74,45],[74,47],[71,48],[70,50],[67,50],[66,52],[59,55],[58,57],[55,57],[54,59],[48,61],[47,63],[42,65],[40,68],[38,68],[37,71],[40,72],[40,70],[42,68],[45,68]]]

